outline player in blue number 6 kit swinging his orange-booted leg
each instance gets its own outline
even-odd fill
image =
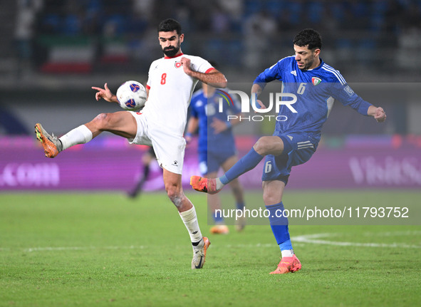
[[[288,219],[281,217],[284,210],[282,194],[288,182],[291,167],[307,162],[316,151],[321,128],[335,100],[379,123],[385,121],[383,108],[375,107],[356,95],[339,71],[328,66],[319,57],[321,36],[313,29],[300,31],[293,39],[295,56],[282,58],[274,66],[257,76],[251,87],[251,103],[266,108],[256,97],[266,83],[281,80],[284,93],[296,95],[296,103],[286,102],[279,108],[279,117],[272,136],[260,137],[251,150],[222,177],[208,179],[192,176],[190,184],[200,192],[219,192],[232,179],[247,172],[265,157],[262,175],[263,199],[269,210],[269,223],[281,249],[281,261],[271,274],[286,274],[301,269],[301,262],[293,253]],[[291,99],[289,99],[291,100]]]

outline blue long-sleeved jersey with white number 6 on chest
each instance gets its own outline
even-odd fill
[[[339,71],[322,60],[320,66],[301,71],[295,56],[282,58],[261,73],[254,83],[264,88],[265,83],[273,80],[281,80],[282,93],[296,95],[295,103],[289,103],[292,102],[290,97],[282,98],[284,104],[279,108],[275,134],[303,132],[318,142],[322,125],[336,100],[363,115],[367,115],[371,105],[353,92]]]

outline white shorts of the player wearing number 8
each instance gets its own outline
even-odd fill
[[[181,175],[186,147],[184,137],[148,125],[147,117],[142,113],[128,112],[133,115],[137,123],[137,133],[134,139],[128,140],[130,144],[152,146],[160,167]]]

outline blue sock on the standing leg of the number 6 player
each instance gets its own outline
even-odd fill
[[[280,216],[281,212],[284,212],[284,204],[279,202],[279,204],[266,206],[266,209],[269,210],[269,223],[271,224],[271,229],[279,248],[281,251],[292,250],[291,239],[289,237],[288,218],[276,217],[276,215]]]

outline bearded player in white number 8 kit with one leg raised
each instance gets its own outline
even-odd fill
[[[165,57],[152,62],[150,66],[146,85],[148,98],[140,112],[102,113],[60,138],[49,135],[39,123],[35,126],[35,132],[46,157],[51,158],[68,147],[89,142],[103,131],[125,137],[132,144],[152,146],[163,169],[167,195],[189,231],[193,246],[192,269],[201,269],[210,242],[202,236],[194,206],[182,189],[186,145],[183,132],[196,83],[200,80],[217,88],[225,88],[227,79],[203,58],[182,53],[180,45],[184,41],[184,34],[178,21],[162,21],[158,26],[158,39]],[[104,88],[93,89],[97,90],[96,100],[103,98],[118,103],[107,83]]]

